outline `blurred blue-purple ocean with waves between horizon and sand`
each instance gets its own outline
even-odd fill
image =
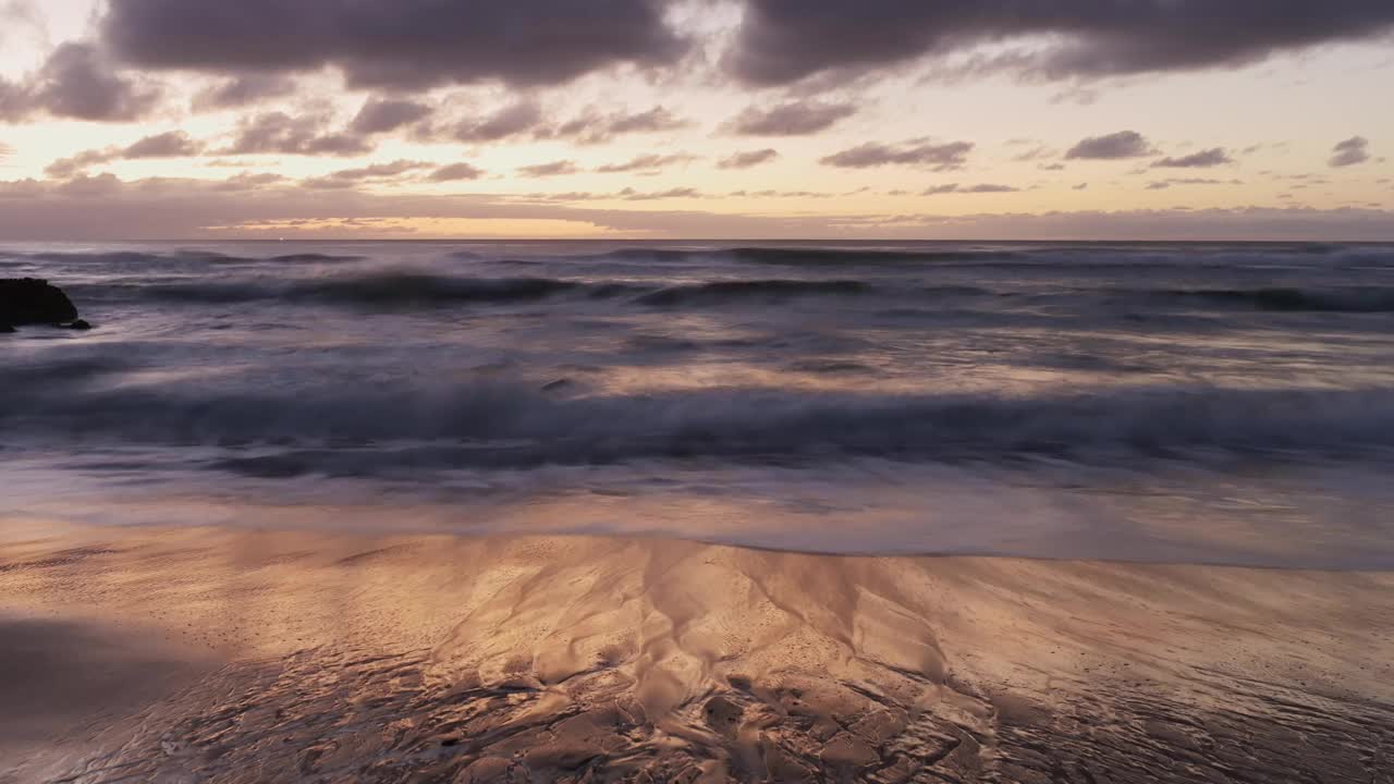
[[[10,244],[0,518],[1394,568],[1394,246]]]

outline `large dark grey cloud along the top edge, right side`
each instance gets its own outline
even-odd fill
[[[726,66],[776,85],[1030,38],[1047,43],[987,66],[1097,78],[1239,66],[1390,31],[1388,0],[749,0]]]

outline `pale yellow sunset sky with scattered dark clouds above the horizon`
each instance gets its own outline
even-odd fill
[[[0,0],[0,240],[1394,240],[1390,0]]]

